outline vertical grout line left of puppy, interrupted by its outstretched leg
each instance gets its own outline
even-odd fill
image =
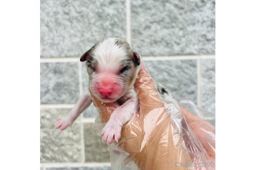
[[[82,63],[79,63],[79,92],[80,96],[83,95],[83,76],[82,76]],[[80,133],[81,133],[81,154],[82,163],[85,162],[85,148],[84,148],[84,128],[83,128],[83,113],[80,116]]]

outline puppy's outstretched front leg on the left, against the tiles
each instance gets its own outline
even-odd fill
[[[69,114],[65,117],[57,119],[55,128],[61,131],[71,126],[76,118],[92,103],[91,97],[86,93],[82,95]]]

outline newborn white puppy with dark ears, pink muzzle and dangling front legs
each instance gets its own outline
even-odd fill
[[[118,142],[123,124],[138,108],[134,82],[140,69],[140,57],[122,39],[107,38],[86,51],[80,61],[85,61],[87,66],[90,93],[79,99],[68,116],[59,118],[55,127],[64,130],[71,126],[92,103],[90,96],[94,95],[104,103],[119,104],[101,131],[104,143]]]

